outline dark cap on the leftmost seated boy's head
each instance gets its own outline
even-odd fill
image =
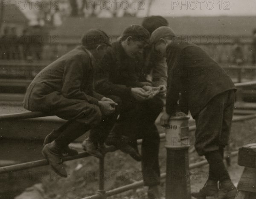
[[[93,49],[101,43],[110,46],[110,37],[100,29],[90,29],[82,36],[81,42],[88,49]]]

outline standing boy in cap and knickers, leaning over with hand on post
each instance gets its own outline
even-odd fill
[[[223,163],[223,149],[228,144],[236,88],[226,72],[200,47],[175,37],[169,27],[156,29],[150,38],[154,50],[166,56],[168,81],[166,112],[161,124],[180,109],[191,112],[196,122],[195,148],[209,163],[209,179],[192,196],[235,198],[236,187]],[[179,96],[180,95],[180,96]],[[219,182],[219,189],[218,183]]]

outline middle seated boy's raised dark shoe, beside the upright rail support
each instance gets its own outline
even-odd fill
[[[141,161],[141,155],[138,153],[138,151],[131,147],[129,143],[129,138],[125,136],[121,137],[108,137],[105,141],[107,145],[114,145],[117,149],[121,150],[123,153],[129,154],[133,159],[140,162]]]

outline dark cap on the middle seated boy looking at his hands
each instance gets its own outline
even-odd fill
[[[126,28],[122,34],[122,37],[133,37],[137,41],[143,41],[145,43],[149,43],[149,32],[139,25],[131,25]]]

